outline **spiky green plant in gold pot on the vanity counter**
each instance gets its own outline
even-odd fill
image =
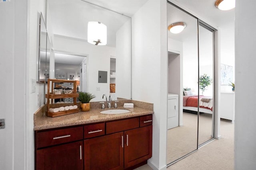
[[[89,92],[79,92],[78,100],[81,102],[80,108],[81,111],[89,111],[90,110],[90,100],[95,98],[96,96]]]

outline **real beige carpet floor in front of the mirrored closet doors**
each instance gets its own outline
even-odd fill
[[[169,166],[167,170],[233,170],[234,124],[220,121],[221,139],[214,140],[186,158]]]

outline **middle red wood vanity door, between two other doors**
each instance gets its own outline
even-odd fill
[[[124,133],[114,133],[84,140],[85,170],[122,170]]]

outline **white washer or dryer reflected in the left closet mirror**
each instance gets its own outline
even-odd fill
[[[167,129],[172,129],[178,126],[179,116],[178,116],[178,94],[168,94],[168,120]]]

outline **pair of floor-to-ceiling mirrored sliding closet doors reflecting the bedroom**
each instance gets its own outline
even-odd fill
[[[171,165],[214,138],[214,30],[168,2],[168,128]]]

